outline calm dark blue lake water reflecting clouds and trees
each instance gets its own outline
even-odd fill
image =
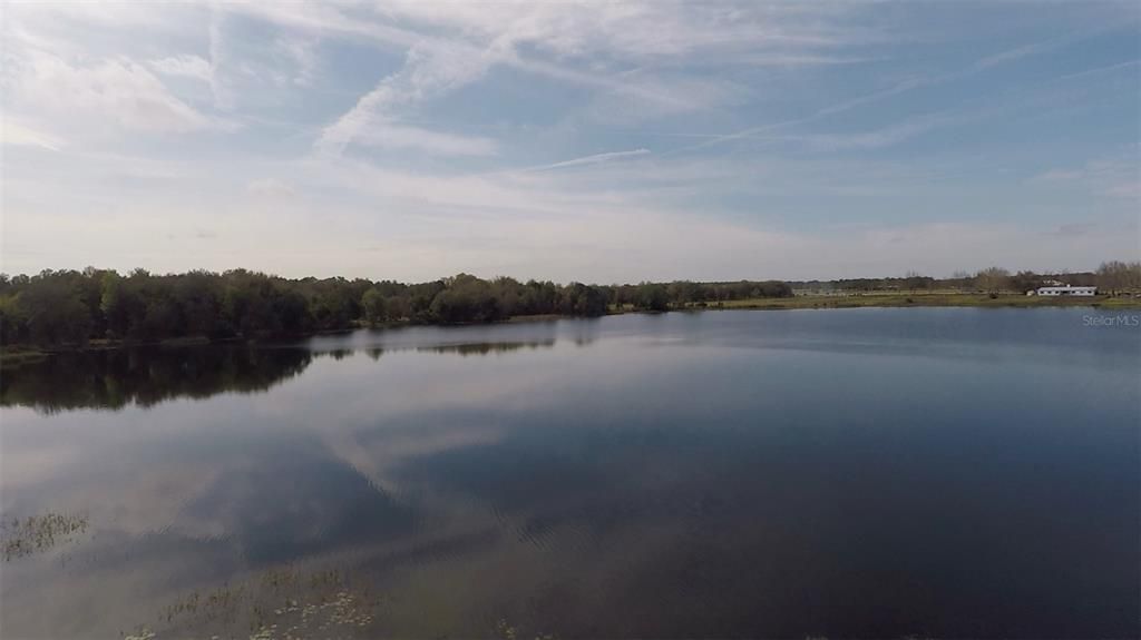
[[[1133,638],[1141,328],[1093,315],[621,315],[8,370],[0,634]]]

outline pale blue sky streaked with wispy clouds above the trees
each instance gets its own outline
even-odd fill
[[[0,270],[1141,256],[1141,2],[5,1]]]

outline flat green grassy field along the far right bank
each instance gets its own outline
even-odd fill
[[[791,298],[748,298],[709,303],[707,309],[856,309],[861,306],[1098,306],[1141,309],[1138,297],[1041,297],[1021,294],[964,294],[957,292],[866,293],[798,295]]]

